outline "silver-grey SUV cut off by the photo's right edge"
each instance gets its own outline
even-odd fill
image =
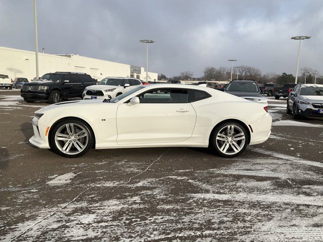
[[[287,114],[293,119],[299,116],[323,117],[323,85],[298,84],[287,98]]]

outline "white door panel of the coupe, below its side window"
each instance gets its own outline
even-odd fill
[[[192,136],[196,113],[190,103],[122,103],[118,144],[182,142]]]

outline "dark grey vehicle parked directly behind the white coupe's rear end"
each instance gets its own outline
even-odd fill
[[[262,97],[258,84],[254,80],[233,79],[224,92],[238,97]]]

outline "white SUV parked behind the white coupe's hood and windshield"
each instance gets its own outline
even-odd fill
[[[111,99],[142,86],[139,79],[131,77],[106,77],[97,85],[88,86],[83,92],[83,99]]]

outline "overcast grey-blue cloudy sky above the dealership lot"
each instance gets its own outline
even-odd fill
[[[145,67],[167,76],[206,66],[237,65],[262,73],[296,71],[300,67],[323,73],[323,1],[283,0],[37,0],[39,49],[74,53]],[[32,0],[0,1],[0,46],[34,50]],[[4,62],[5,60],[0,60]]]

